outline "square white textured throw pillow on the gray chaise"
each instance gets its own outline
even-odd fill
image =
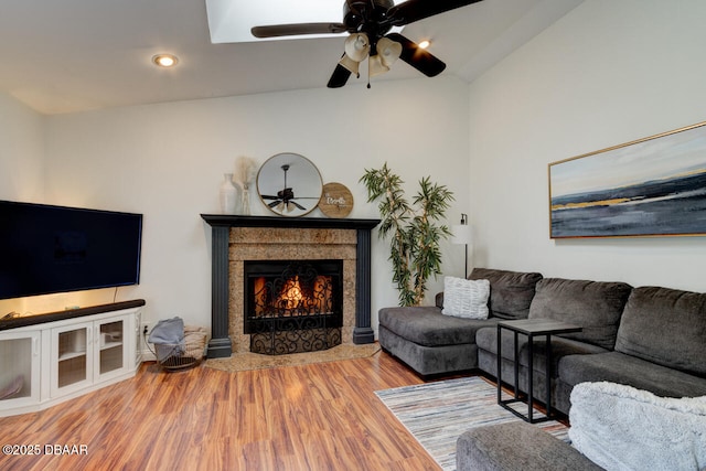
[[[441,313],[468,319],[488,319],[489,280],[443,278],[443,309]]]

